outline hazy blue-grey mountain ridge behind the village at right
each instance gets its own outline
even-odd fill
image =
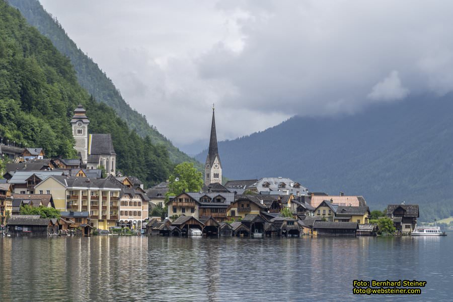
[[[352,116],[293,117],[218,149],[230,179],[291,177],[312,192],[363,195],[372,209],[418,203],[432,221],[453,216],[451,112],[451,95],[413,97]]]

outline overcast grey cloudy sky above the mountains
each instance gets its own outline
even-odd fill
[[[208,139],[212,103],[223,140],[453,90],[451,1],[41,3],[183,149]]]

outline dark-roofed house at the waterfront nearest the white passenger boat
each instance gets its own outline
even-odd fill
[[[411,233],[420,217],[418,205],[388,205],[387,217],[392,218],[398,233]]]

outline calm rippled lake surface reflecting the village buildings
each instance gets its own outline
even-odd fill
[[[0,238],[0,301],[451,301],[446,237]],[[427,281],[421,295],[352,280]]]

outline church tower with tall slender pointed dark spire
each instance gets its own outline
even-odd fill
[[[209,152],[204,169],[204,184],[222,183],[222,164],[217,148],[217,134],[215,133],[214,107],[212,107],[211,136],[209,138]]]

